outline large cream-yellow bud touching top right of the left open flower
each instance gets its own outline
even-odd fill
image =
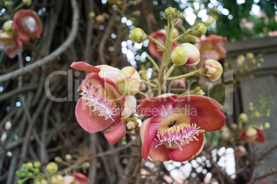
[[[133,67],[124,67],[116,75],[116,86],[121,95],[136,95],[141,87],[139,72]]]

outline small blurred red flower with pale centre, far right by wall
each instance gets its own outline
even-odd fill
[[[240,132],[240,140],[241,139],[244,139],[247,143],[263,143],[265,141],[265,135],[263,135],[258,126],[251,126]]]

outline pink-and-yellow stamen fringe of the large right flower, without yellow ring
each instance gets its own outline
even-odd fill
[[[196,124],[179,124],[166,128],[165,130],[158,130],[158,140],[155,139],[158,142],[156,147],[164,143],[169,143],[171,147],[171,143],[176,143],[180,150],[182,150],[181,146],[183,146],[183,143],[189,143],[189,141],[193,141],[194,139],[198,141],[195,135],[203,133],[204,131],[200,127],[196,127]]]

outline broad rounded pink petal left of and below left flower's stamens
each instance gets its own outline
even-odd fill
[[[92,111],[93,107],[91,107],[90,109],[90,107],[85,106],[85,102],[83,99],[80,98],[78,100],[75,108],[75,115],[80,126],[85,131],[89,133],[96,133],[104,130],[114,122],[110,118],[105,120],[105,117],[98,116]]]

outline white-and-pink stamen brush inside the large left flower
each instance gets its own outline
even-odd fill
[[[112,97],[107,94],[107,92],[103,89],[100,84],[95,82],[88,83],[83,85],[83,92],[81,93],[82,99],[86,100],[86,106],[92,106],[93,113],[97,112],[98,116],[112,119],[112,116],[116,115],[117,111],[120,111],[118,104]],[[114,119],[112,119],[114,121]]]

